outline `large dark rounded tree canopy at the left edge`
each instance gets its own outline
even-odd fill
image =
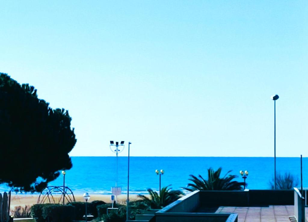
[[[68,111],[52,109],[33,86],[0,73],[0,183],[40,192],[72,167],[75,143]]]

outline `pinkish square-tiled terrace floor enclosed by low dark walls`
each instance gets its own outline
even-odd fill
[[[216,213],[237,213],[238,222],[290,222],[289,216],[294,216],[294,206],[220,207]]]

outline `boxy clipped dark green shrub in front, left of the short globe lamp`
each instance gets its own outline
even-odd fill
[[[75,219],[75,207],[71,205],[50,204],[42,208],[43,218],[52,222],[71,222]]]

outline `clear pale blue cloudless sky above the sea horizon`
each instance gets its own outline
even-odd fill
[[[273,156],[276,93],[277,156],[307,156],[307,11],[306,0],[1,1],[0,72],[69,110],[73,156],[112,155],[109,140],[130,140],[134,156]]]

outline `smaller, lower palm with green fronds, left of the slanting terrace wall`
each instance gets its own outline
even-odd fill
[[[169,186],[171,185],[161,188],[160,194],[149,188],[148,192],[150,198],[144,195],[138,195],[138,196],[141,197],[145,201],[145,203],[148,204],[148,206],[150,206],[152,209],[160,209],[176,201],[181,197],[181,195],[184,194],[180,190],[172,190],[172,188],[169,188]]]

